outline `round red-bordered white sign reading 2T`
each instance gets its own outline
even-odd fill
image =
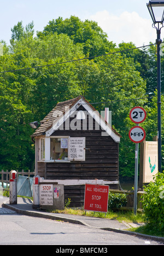
[[[142,123],[147,117],[147,112],[143,109],[143,107],[133,107],[129,116],[133,123]]]

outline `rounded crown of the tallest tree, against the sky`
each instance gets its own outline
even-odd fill
[[[89,54],[89,56],[104,54],[109,52],[110,48],[115,47],[115,44],[108,41],[107,34],[97,25],[97,22],[81,21],[75,16],[65,20],[59,17],[56,20],[49,21],[43,32],[37,32],[37,36],[42,38],[43,35],[49,35],[50,33],[68,35],[74,44],[80,43],[83,45],[84,54]]]

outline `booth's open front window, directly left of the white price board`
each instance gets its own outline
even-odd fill
[[[50,138],[50,160],[68,161],[68,138]]]

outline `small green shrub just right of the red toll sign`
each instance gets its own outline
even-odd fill
[[[120,208],[126,206],[127,198],[125,194],[110,193],[108,197],[108,209]]]

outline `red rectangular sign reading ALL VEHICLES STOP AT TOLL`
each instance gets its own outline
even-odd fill
[[[108,212],[108,185],[85,184],[84,210]]]

